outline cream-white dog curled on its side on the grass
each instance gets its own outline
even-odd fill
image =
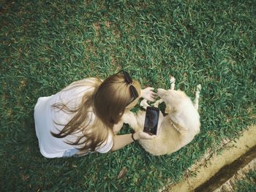
[[[197,85],[194,104],[183,91],[175,91],[175,78],[170,78],[170,89],[157,90],[161,98],[156,101],[154,107],[162,101],[166,104],[164,117],[159,114],[158,135],[155,139],[140,139],[140,145],[152,155],[164,155],[176,152],[184,147],[200,131],[200,116],[197,112],[201,85]],[[140,102],[146,109],[146,100]],[[146,112],[140,110],[137,114],[127,112],[123,116],[124,123],[128,123],[135,131],[143,130]]]

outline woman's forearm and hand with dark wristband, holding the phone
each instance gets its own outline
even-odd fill
[[[143,131],[138,131],[135,134],[133,134],[133,138],[135,140],[138,140],[138,139],[154,139],[156,137],[157,137],[156,135],[149,135],[149,134],[146,134]],[[114,142],[114,144],[113,144],[113,147],[112,147],[111,151],[119,150],[122,147],[124,147],[126,145],[129,145],[131,142],[133,142],[132,134],[115,135],[113,137],[113,142]]]

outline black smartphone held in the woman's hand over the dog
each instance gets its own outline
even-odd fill
[[[151,135],[157,135],[158,120],[159,109],[157,107],[147,107],[143,131]]]

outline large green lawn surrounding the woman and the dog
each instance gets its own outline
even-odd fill
[[[157,191],[180,180],[206,150],[255,124],[255,10],[249,0],[0,1],[1,191]],[[43,158],[37,98],[121,66],[143,87],[168,88],[173,74],[194,96],[201,83],[200,134],[160,157],[134,143],[105,155]]]

